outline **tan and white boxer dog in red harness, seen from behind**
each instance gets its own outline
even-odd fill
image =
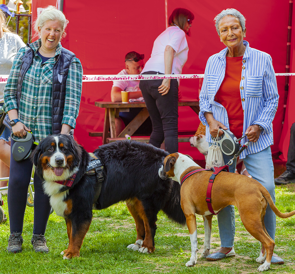
[[[159,169],[161,179],[172,178],[181,182],[182,178],[190,171],[201,169],[191,158],[181,153],[173,153],[165,157],[163,166]],[[210,237],[212,213],[208,209],[206,202],[206,192],[209,178],[213,171],[200,171],[188,177],[180,189],[181,208],[186,217],[186,223],[191,239],[191,258],[185,264],[193,266],[197,262],[197,225],[195,214],[202,215],[204,220],[204,250],[201,257],[210,254]],[[264,215],[267,203],[280,218],[288,218],[295,214],[282,213],[276,208],[269,192],[256,180],[240,176],[239,174],[222,171],[214,180],[211,192],[211,204],[215,213],[228,205],[238,208],[241,221],[248,232],[260,241],[266,252],[259,256],[256,261],[263,263],[257,270],[264,271],[270,269],[270,262],[275,246],[275,242],[268,235],[264,226]]]

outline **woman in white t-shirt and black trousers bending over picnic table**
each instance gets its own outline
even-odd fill
[[[141,74],[181,74],[188,59],[188,43],[194,14],[176,8],[169,17],[169,27],[155,40],[151,58]],[[153,124],[149,143],[165,150],[178,151],[178,86],[177,79],[141,80],[139,87]]]

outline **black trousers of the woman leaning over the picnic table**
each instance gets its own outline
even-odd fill
[[[148,71],[143,74],[157,72]],[[141,80],[139,88],[153,125],[149,143],[160,147],[165,139],[165,150],[174,153],[178,152],[178,82],[171,79],[169,92],[162,96],[158,91],[162,81]]]

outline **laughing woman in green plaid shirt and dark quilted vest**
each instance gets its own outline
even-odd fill
[[[30,131],[35,140],[48,134],[69,134],[75,128],[82,91],[82,66],[75,54],[64,49],[61,38],[68,20],[48,6],[35,22],[40,39],[21,49],[12,65],[4,91],[4,110],[12,132],[24,137]],[[11,140],[13,146],[14,140]],[[16,162],[11,153],[8,187],[10,237],[7,251],[22,251],[23,219],[33,164]],[[32,245],[36,252],[49,252],[44,236],[50,214],[49,198],[42,181],[34,175],[34,228]]]

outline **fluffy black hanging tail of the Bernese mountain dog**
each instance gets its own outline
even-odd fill
[[[167,195],[167,200],[163,208],[163,212],[169,219],[184,225],[186,223],[185,215],[180,205],[180,185],[178,182],[172,181],[172,188]]]

